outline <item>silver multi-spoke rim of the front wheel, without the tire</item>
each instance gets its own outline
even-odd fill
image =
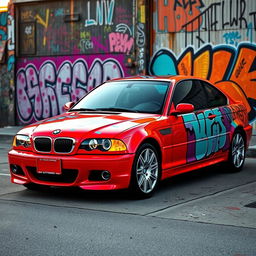
[[[159,174],[158,159],[155,152],[150,149],[144,149],[137,160],[136,178],[140,190],[148,194],[156,186]]]

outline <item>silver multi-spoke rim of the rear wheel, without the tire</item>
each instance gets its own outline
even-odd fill
[[[245,158],[244,139],[240,133],[235,134],[232,141],[232,160],[236,168],[242,166]]]

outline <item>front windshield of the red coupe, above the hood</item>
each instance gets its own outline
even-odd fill
[[[169,82],[107,82],[78,102],[70,111],[162,113]]]

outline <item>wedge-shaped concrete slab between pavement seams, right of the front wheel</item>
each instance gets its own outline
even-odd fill
[[[166,208],[149,216],[256,228],[255,186],[256,182],[251,182]]]

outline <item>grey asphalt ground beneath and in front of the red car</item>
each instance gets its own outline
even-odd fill
[[[256,256],[256,159],[162,182],[147,200],[127,193],[11,184],[0,141],[0,256]]]

